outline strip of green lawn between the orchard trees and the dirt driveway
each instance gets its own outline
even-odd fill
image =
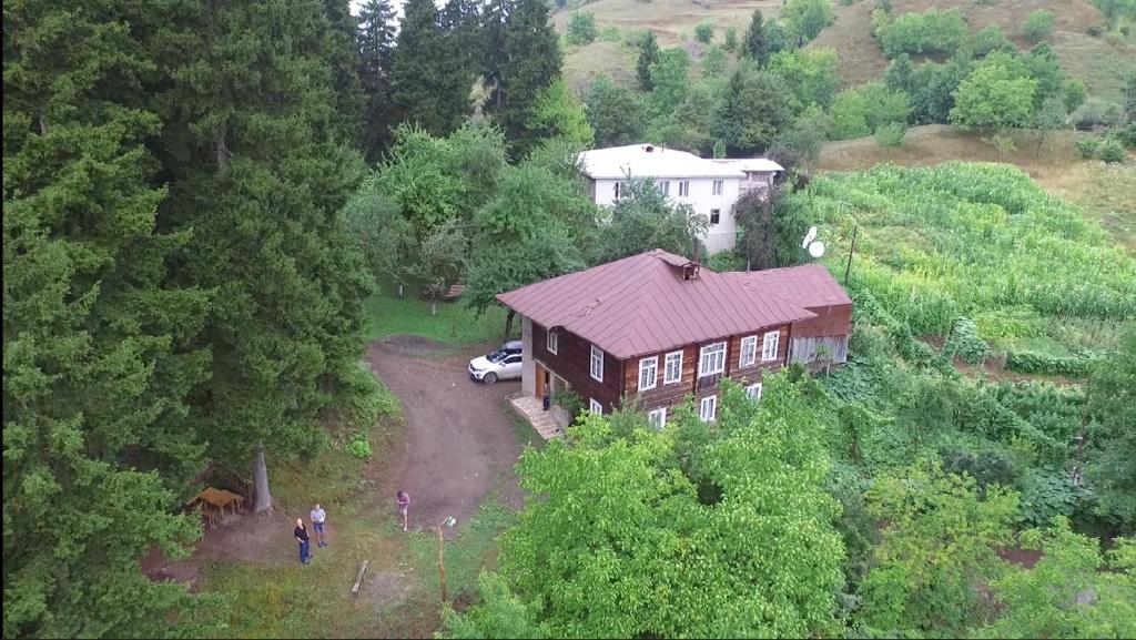
[[[389,335],[411,333],[443,344],[469,344],[501,340],[504,332],[506,310],[490,307],[481,317],[460,299],[438,302],[437,315],[431,315],[431,304],[414,294],[407,286],[399,297],[396,288],[382,286],[367,300],[367,339],[379,340]],[[513,323],[515,330],[520,323]]]

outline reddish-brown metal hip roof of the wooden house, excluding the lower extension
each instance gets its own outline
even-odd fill
[[[815,317],[782,297],[654,249],[501,293],[504,306],[625,359]]]

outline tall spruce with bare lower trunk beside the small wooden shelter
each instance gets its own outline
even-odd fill
[[[320,443],[316,419],[359,356],[369,279],[337,211],[362,163],[334,126],[319,0],[184,10],[157,57],[175,78],[160,97],[160,213],[193,233],[179,282],[216,291],[201,336],[212,376],[195,396],[209,452],[224,468],[252,464],[264,510],[265,452]]]

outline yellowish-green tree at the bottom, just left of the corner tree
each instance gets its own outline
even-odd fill
[[[1003,575],[995,550],[1011,541],[1018,494],[920,463],[877,477],[868,510],[887,523],[860,585],[858,624],[870,635],[961,637],[983,620],[978,581]]]

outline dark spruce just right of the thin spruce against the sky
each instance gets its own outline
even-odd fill
[[[469,115],[473,88],[438,25],[433,0],[408,0],[391,70],[391,91],[401,122],[448,135]]]

